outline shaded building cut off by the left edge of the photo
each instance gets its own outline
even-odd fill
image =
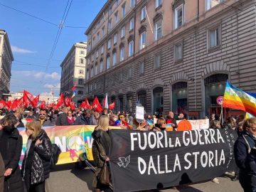
[[[14,55],[11,51],[9,38],[6,31],[0,29],[0,99],[6,100],[3,94],[10,92],[11,63]]]

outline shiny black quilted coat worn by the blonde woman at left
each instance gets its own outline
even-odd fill
[[[31,136],[28,139],[31,139]],[[42,140],[42,144],[36,146],[38,139]],[[50,139],[42,129],[38,137],[32,141],[28,154],[25,153],[22,163],[21,172],[27,190],[29,190],[31,184],[41,183],[49,178],[51,154]]]

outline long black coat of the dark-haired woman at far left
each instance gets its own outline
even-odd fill
[[[11,176],[4,178],[4,192],[23,192],[21,170],[18,167],[22,150],[22,137],[14,127],[9,131],[4,128],[0,132],[0,150],[5,169],[13,169]]]

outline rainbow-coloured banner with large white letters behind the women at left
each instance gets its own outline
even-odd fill
[[[50,141],[60,147],[61,153],[58,164],[68,164],[81,160],[93,160],[92,157],[92,132],[95,125],[55,126],[43,127],[50,138]],[[26,151],[28,137],[25,128],[18,128],[23,138],[23,149],[21,161]]]

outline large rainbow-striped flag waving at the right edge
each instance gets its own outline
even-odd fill
[[[226,82],[223,107],[249,112],[256,116],[256,97]]]

